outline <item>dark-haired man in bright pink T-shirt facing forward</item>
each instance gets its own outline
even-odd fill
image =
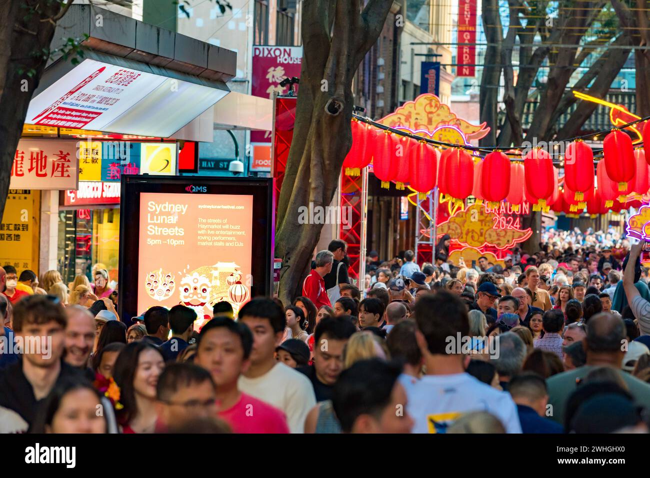
[[[205,368],[216,383],[217,415],[235,433],[289,433],[285,414],[237,388],[250,365],[253,335],[240,322],[216,317],[201,329],[194,363]]]

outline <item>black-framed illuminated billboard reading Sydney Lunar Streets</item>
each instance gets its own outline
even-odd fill
[[[185,305],[198,329],[270,294],[272,180],[122,176],[120,315]]]

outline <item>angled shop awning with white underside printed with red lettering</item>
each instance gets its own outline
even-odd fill
[[[55,38],[86,35],[81,63],[58,58],[47,66],[26,123],[212,140],[205,125],[229,93],[235,52],[96,6],[73,5]]]

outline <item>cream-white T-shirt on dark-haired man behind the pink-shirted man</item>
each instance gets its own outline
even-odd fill
[[[291,433],[304,433],[305,418],[316,405],[314,388],[304,374],[278,362],[261,377],[248,379],[240,375],[237,384],[244,394],[282,410]]]

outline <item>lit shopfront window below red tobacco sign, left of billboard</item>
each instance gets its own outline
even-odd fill
[[[93,281],[92,268],[99,264],[118,281],[120,209],[73,209],[59,213],[59,272],[71,284],[75,275]]]

